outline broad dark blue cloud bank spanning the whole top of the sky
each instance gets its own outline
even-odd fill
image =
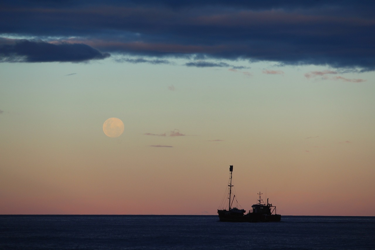
[[[161,60],[148,63],[216,60],[186,64],[195,67],[226,67],[229,59],[373,71],[374,9],[374,1],[354,0],[3,0],[1,36],[44,42],[2,46],[1,61],[83,62],[113,53]],[[51,40],[71,45],[51,47]]]

